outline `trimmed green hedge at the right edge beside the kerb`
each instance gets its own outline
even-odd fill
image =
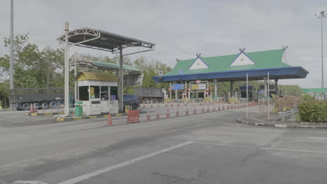
[[[298,105],[301,121],[327,123],[327,101],[302,100]]]

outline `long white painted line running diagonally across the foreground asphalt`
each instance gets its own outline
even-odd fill
[[[84,174],[82,176],[71,178],[71,179],[69,179],[67,181],[63,181],[63,182],[60,182],[60,183],[57,183],[57,184],[74,184],[74,183],[78,183],[78,182],[84,181],[84,180],[86,180],[88,178],[92,178],[94,176],[98,176],[99,174],[102,174],[102,173],[111,171],[113,169],[118,169],[119,167],[124,167],[126,165],[133,164],[134,162],[137,162],[137,161],[140,161],[140,160],[145,160],[146,158],[150,158],[150,157],[153,157],[155,155],[159,155],[161,153],[165,153],[167,151],[172,151],[175,148],[180,148],[182,146],[187,146],[188,144],[192,144],[192,143],[194,143],[194,142],[193,141],[187,141],[187,142],[184,142],[182,144],[177,144],[176,146],[171,146],[169,148],[164,148],[162,150],[155,151],[153,153],[140,156],[138,158],[133,158],[132,160],[128,160],[126,162],[121,162],[119,164],[114,164],[112,166],[109,166],[109,167],[106,167],[106,168],[103,168],[103,169],[99,169],[99,170],[93,171],[93,172],[91,172],[89,174]]]

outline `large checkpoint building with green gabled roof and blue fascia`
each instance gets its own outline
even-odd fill
[[[246,81],[247,75],[249,80],[264,80],[265,84],[268,79],[275,80],[274,93],[277,94],[279,79],[301,79],[309,73],[301,66],[289,66],[286,63],[286,48],[261,52],[245,52],[245,48],[241,48],[238,54],[213,57],[196,54],[195,59],[177,59],[172,71],[152,78],[154,82],[185,84],[184,90],[188,91],[185,93],[188,98],[191,96],[191,82],[215,82],[217,96],[217,82],[230,82],[231,94],[233,82]]]

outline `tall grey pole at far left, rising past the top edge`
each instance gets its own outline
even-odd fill
[[[13,66],[13,0],[10,1],[10,90],[14,89],[14,66]],[[10,91],[12,93],[12,91]],[[6,100],[5,100],[6,101]],[[10,102],[10,109],[12,103]]]

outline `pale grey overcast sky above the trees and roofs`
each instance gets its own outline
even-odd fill
[[[9,37],[10,0],[1,0],[0,39]],[[317,1],[110,1],[110,0],[14,0],[14,33],[29,33],[30,42],[41,47],[58,45],[64,31],[91,27],[156,43],[153,52],[138,54],[175,66],[175,59],[286,49],[287,63],[303,66],[306,79],[285,79],[280,84],[303,88],[321,87],[321,24],[314,17],[327,12],[327,0]],[[324,47],[327,49],[327,18]],[[1,44],[0,54],[8,49]],[[109,55],[72,47],[71,53]],[[325,52],[326,53],[326,52]],[[133,56],[134,58],[135,56]],[[327,55],[325,68],[327,66]],[[327,87],[327,70],[325,84]]]

